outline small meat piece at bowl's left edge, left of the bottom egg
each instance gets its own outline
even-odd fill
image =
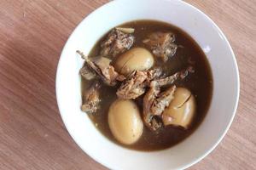
[[[95,113],[99,108],[101,85],[99,82],[94,82],[88,90],[84,91],[82,111],[86,113]]]

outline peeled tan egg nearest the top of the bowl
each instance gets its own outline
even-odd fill
[[[114,69],[122,75],[132,71],[148,70],[154,65],[154,56],[145,48],[132,48],[121,54],[114,64]]]

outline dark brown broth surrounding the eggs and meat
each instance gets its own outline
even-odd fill
[[[142,137],[135,144],[120,144],[132,150],[151,151],[169,148],[183,141],[183,139],[186,139],[191,133],[193,133],[196,127],[200,125],[203,118],[207,114],[207,110],[212,99],[212,72],[208,64],[207,57],[198,46],[198,44],[195,42],[195,40],[193,40],[186,32],[182,31],[176,26],[154,20],[137,20],[125,23],[121,26],[135,28],[134,36],[136,37],[136,41],[132,48],[147,48],[145,44],[143,44],[143,39],[147,37],[147,35],[151,32],[172,31],[173,33],[175,33],[175,42],[178,45],[177,53],[171,59],[168,59],[166,63],[156,60],[154,65],[160,65],[161,68],[163,68],[166,72],[166,75],[171,75],[176,71],[184,69],[186,66],[189,65],[189,58],[195,62],[195,73],[189,74],[189,76],[183,79],[183,81],[175,82],[177,87],[188,88],[195,96],[195,117],[189,129],[185,130],[183,129],[183,127],[168,126],[161,128],[157,132],[152,132],[147,127],[144,127]],[[102,39],[104,37],[102,37]],[[90,52],[90,58],[99,55],[100,42],[102,42],[102,39],[96,42],[96,45]],[[90,86],[90,83],[90,81],[82,79],[83,93],[85,93],[84,89]],[[113,138],[113,134],[108,127],[108,109],[113,101],[117,99],[115,93],[118,88],[119,84],[114,88],[103,85],[100,89],[102,99],[100,103],[101,107],[96,113],[89,115],[91,121],[96,125],[99,131],[116,144],[119,144],[119,142],[117,142],[116,139]],[[143,96],[139,97],[135,101],[137,102],[140,113],[142,115]]]

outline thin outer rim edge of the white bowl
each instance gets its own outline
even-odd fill
[[[117,0],[116,0],[117,1]],[[121,1],[121,0],[119,0]],[[124,0],[125,1],[125,0]],[[164,1],[169,1],[169,0],[164,0]],[[182,3],[183,5],[187,5],[189,6],[189,8],[193,8],[194,10],[196,10],[197,12],[199,12],[206,20],[209,20],[212,25],[218,30],[218,32],[221,34],[222,37],[224,37],[224,42],[228,45],[228,48],[230,50],[230,53],[231,53],[231,56],[232,56],[232,60],[235,64],[235,71],[236,71],[236,85],[237,85],[237,89],[236,89],[236,102],[235,102],[235,107],[234,107],[234,110],[233,110],[233,113],[232,113],[232,116],[230,118],[230,122],[228,123],[227,127],[225,127],[224,129],[224,133],[221,134],[221,137],[218,138],[218,141],[212,145],[211,148],[207,149],[207,151],[201,155],[200,157],[197,157],[195,158],[194,160],[191,160],[188,164],[186,165],[183,165],[181,167],[178,167],[178,169],[186,169],[188,167],[191,167],[193,165],[195,165],[197,162],[201,161],[203,158],[205,158],[207,155],[209,155],[212,150],[214,150],[217,145],[220,143],[220,141],[222,139],[224,139],[224,136],[225,134],[228,132],[228,130],[230,129],[230,125],[231,123],[233,122],[234,120],[234,117],[236,116],[236,110],[237,110],[237,107],[238,107],[238,102],[239,102],[239,97],[240,97],[240,76],[239,76],[239,69],[238,69],[238,65],[237,65],[237,62],[236,62],[236,55],[234,54],[233,52],[233,49],[231,48],[230,46],[230,42],[228,41],[227,37],[224,36],[224,32],[220,30],[220,28],[216,25],[216,23],[209,17],[207,16],[207,14],[204,14],[199,8],[196,8],[195,6],[189,4],[189,3],[186,3],[184,1],[180,1],[180,0],[174,0],[178,3]],[[64,47],[62,48],[62,51],[61,51],[61,56],[63,55],[63,51],[65,48],[67,48],[67,44],[68,42],[70,41],[71,37],[73,37],[73,34],[79,30],[79,27],[82,25],[82,22],[87,18],[89,17],[90,15],[92,14],[95,14],[97,12],[98,9],[101,9],[101,8],[105,8],[109,5],[112,5],[115,1],[110,1],[108,3],[105,3],[103,4],[101,7],[99,8],[95,8],[94,11],[92,11],[90,14],[87,14],[83,20],[81,20],[79,22],[79,25],[77,25],[75,27],[75,29],[72,31],[72,33],[70,34],[70,36],[68,37],[67,39],[67,42],[65,43]],[[67,120],[64,119],[64,117],[62,116],[61,114],[61,107],[60,107],[60,102],[61,102],[61,99],[60,99],[60,92],[59,92],[59,86],[61,85],[61,82],[60,82],[60,78],[58,75],[61,74],[60,72],[60,65],[61,65],[61,60],[63,59],[62,57],[60,56],[60,59],[58,61],[58,65],[57,65],[57,71],[56,71],[56,75],[55,75],[55,95],[56,95],[56,100],[57,100],[57,105],[58,105],[58,109],[59,109],[59,112],[60,112],[60,115],[61,115],[61,119],[62,121],[64,122],[64,125],[65,127],[67,128],[67,132],[69,133],[69,135],[72,137],[73,141],[75,142],[75,144],[79,145],[79,148],[81,150],[83,150],[83,152],[90,156],[92,159],[94,159],[95,161],[97,161],[98,163],[102,164],[102,166],[104,167],[108,167],[110,169],[113,169],[113,166],[111,166],[110,164],[106,164],[106,163],[103,163],[101,160],[99,160],[96,156],[93,156],[91,154],[89,154],[86,150],[83,149],[83,147],[75,140],[74,136],[73,136],[73,133],[72,133],[72,130],[71,128],[67,125]],[[210,63],[209,63],[210,64]],[[210,64],[211,65],[211,64]],[[150,153],[150,152],[149,152]]]

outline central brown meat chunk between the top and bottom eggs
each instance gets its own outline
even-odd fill
[[[120,99],[137,99],[145,93],[145,88],[150,81],[160,77],[160,74],[159,68],[150,71],[133,71],[129,78],[121,84],[116,94]]]

